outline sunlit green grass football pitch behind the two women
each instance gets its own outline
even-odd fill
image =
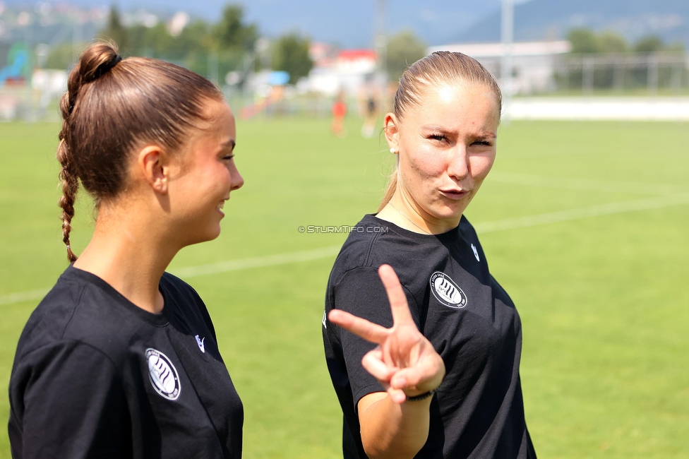
[[[328,120],[240,122],[246,185],[225,206],[220,238],[185,249],[171,270],[342,244],[345,234],[297,228],[352,225],[376,210],[390,154],[378,138],[360,138],[359,123],[349,119],[349,136],[337,139]],[[689,457],[688,128],[501,127],[493,175],[467,216],[484,228],[493,275],[522,316],[522,385],[540,458]],[[58,130],[0,124],[1,388],[37,304],[7,296],[50,287],[67,264]],[[77,212],[78,252],[92,230],[88,199]],[[189,279],[244,401],[245,458],[342,457],[320,338],[333,259]],[[1,424],[7,418],[4,396]],[[2,429],[0,458],[9,457]]]

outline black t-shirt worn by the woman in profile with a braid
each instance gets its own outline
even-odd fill
[[[198,294],[165,273],[161,314],[70,266],[19,339],[13,457],[240,458],[244,412]]]

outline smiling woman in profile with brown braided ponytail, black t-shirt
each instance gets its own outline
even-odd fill
[[[61,100],[63,239],[72,262],[33,312],[10,381],[15,458],[239,458],[243,410],[205,305],[165,269],[220,234],[244,183],[218,88],[163,61],[80,57]],[[70,246],[79,184],[97,220]]]

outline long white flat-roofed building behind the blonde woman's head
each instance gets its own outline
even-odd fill
[[[568,41],[515,42],[512,47],[513,93],[532,94],[555,89],[558,56],[570,52],[570,49]],[[428,49],[429,54],[435,51],[467,54],[481,62],[493,75],[501,77],[500,64],[505,54],[503,43],[443,44]]]

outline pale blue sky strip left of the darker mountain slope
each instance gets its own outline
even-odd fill
[[[523,1],[523,0],[522,0]],[[35,8],[35,0],[0,0],[10,6]],[[313,40],[344,47],[371,47],[377,0],[61,0],[81,7],[116,4],[122,11],[145,8],[171,16],[186,11],[210,21],[220,18],[225,4],[243,3],[248,20],[264,34],[300,30]],[[495,11],[501,0],[385,0],[385,28],[414,30],[428,44],[441,43]],[[57,3],[48,1],[48,3]],[[2,18],[0,17],[0,20]]]

